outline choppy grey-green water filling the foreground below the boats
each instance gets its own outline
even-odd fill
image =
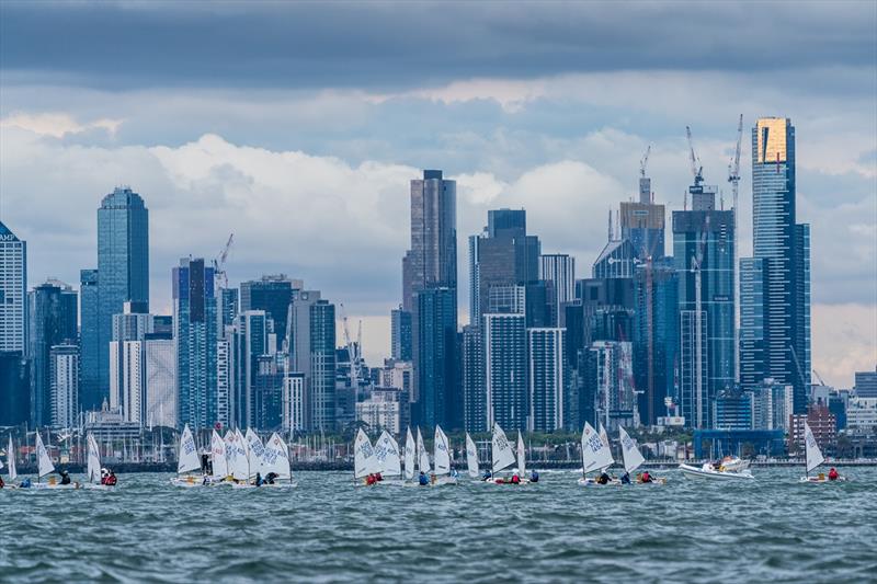
[[[354,488],[303,472],[294,490],[0,491],[0,581],[877,581],[877,469],[798,484]]]

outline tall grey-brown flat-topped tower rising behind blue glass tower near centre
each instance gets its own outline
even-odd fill
[[[402,309],[414,312],[414,294],[457,287],[457,183],[441,170],[411,181],[411,249],[402,260]]]

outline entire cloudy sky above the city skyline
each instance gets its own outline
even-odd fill
[[[523,206],[586,277],[649,144],[659,202],[682,207],[691,125],[731,204],[740,114],[740,253],[750,128],[788,116],[813,366],[848,387],[877,363],[875,2],[0,3],[0,219],[29,242],[32,285],[95,266],[95,209],[129,184],[150,209],[153,311],[180,256],[234,232],[231,282],[304,278],[363,318],[373,364],[420,169],[458,181],[459,250],[489,208]]]

